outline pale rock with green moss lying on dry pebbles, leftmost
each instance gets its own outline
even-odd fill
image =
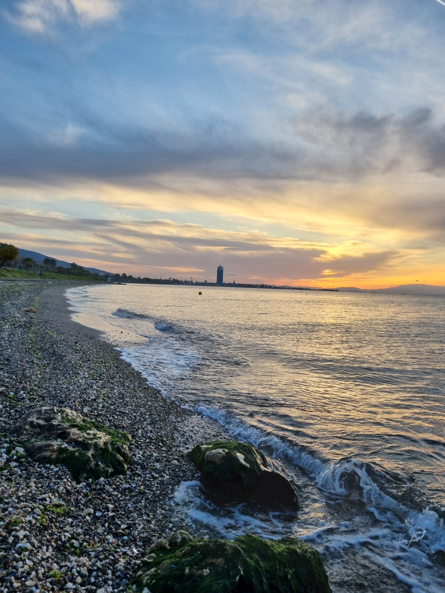
[[[125,473],[130,437],[73,410],[43,407],[28,412],[13,431],[34,461],[61,464],[78,482]]]

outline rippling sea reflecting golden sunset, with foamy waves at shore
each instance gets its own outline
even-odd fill
[[[299,485],[287,515],[215,508],[182,483],[193,525],[296,535],[338,592],[445,592],[444,297],[138,284],[67,297],[164,397]]]

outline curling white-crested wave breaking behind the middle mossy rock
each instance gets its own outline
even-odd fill
[[[201,405],[189,409],[216,420],[241,441],[268,449],[274,457],[302,468],[328,495],[360,499],[379,521],[397,524],[403,529],[406,535],[400,542],[403,546],[415,545],[428,553],[445,551],[444,518],[428,507],[421,511],[409,508],[388,493],[395,495],[396,484],[399,484],[399,490],[403,490],[403,486],[408,484],[403,476],[354,458],[343,458],[333,463],[324,461],[309,448],[287,444],[276,435],[234,419],[218,406]]]

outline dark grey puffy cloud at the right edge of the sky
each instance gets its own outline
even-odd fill
[[[306,165],[314,175],[357,179],[407,167],[445,173],[445,125],[427,107],[406,116],[311,111],[293,126],[309,147]]]

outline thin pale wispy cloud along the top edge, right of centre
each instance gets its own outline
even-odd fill
[[[320,2],[319,0],[190,0],[222,18],[249,20],[263,37],[279,34],[282,40],[311,50],[332,50],[343,44],[373,52],[424,51],[424,28],[406,0]],[[419,7],[420,8],[420,7]],[[425,12],[425,7],[422,7]],[[396,31],[396,34],[395,34]]]

